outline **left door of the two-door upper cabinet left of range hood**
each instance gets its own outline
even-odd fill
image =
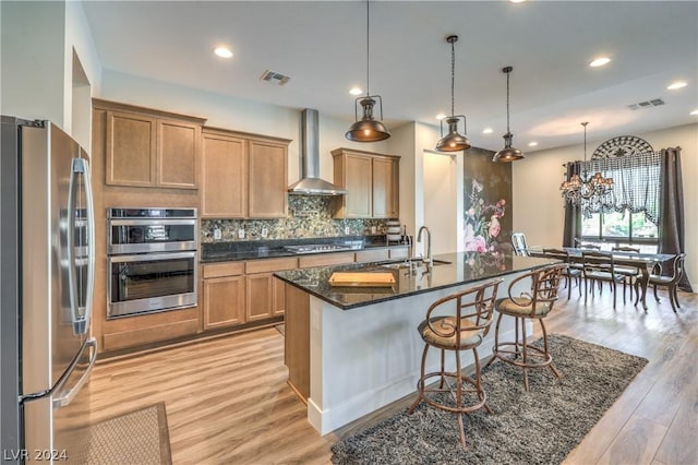
[[[244,139],[203,131],[201,216],[248,214],[248,144]]]

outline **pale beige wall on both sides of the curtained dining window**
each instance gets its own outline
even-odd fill
[[[646,140],[654,150],[682,147],[686,269],[694,289],[698,289],[698,123],[633,135]],[[593,153],[603,142],[588,140],[587,153]],[[562,165],[582,157],[583,145],[579,144],[529,152],[525,159],[514,163],[514,230],[526,233],[529,246],[558,247],[562,243]]]

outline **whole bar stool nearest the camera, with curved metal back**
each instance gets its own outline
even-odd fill
[[[426,318],[418,326],[419,334],[424,341],[424,351],[421,375],[417,382],[418,397],[407,414],[411,415],[422,401],[432,407],[455,413],[458,418],[460,444],[464,449],[466,448],[466,433],[462,426],[462,414],[480,408],[492,414],[492,409],[486,404],[488,397],[480,379],[478,346],[490,331],[494,301],[502,281],[489,281],[436,300],[429,307]],[[441,370],[426,373],[426,354],[430,347],[441,350]],[[455,371],[446,370],[446,350],[455,353]],[[462,372],[461,350],[472,350],[476,366],[474,378]],[[436,382],[426,385],[428,380],[432,378],[438,379],[438,386],[436,386]]]

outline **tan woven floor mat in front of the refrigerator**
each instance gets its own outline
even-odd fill
[[[71,451],[71,463],[172,463],[164,402],[89,425],[77,437],[82,444]]]

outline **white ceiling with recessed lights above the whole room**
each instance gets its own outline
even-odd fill
[[[356,1],[84,1],[105,69],[353,120],[348,90],[366,81],[366,3]],[[371,93],[384,121],[438,124],[456,108],[476,146],[506,132],[505,65],[514,145],[533,151],[637,135],[698,121],[696,1],[388,1],[370,3]],[[234,57],[212,53],[229,45]],[[598,56],[610,64],[590,68]],[[284,86],[265,70],[290,76]],[[688,83],[678,91],[666,86]],[[628,105],[661,98],[663,106]],[[377,110],[376,110],[377,111]],[[492,134],[482,134],[484,128]],[[538,141],[535,148],[528,147]],[[659,147],[655,147],[659,148]],[[590,152],[593,147],[590,147]]]

